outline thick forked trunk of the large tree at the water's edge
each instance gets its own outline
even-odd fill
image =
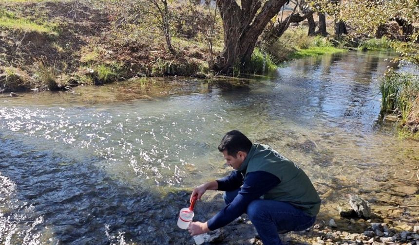
[[[213,69],[227,74],[234,67],[244,70],[259,35],[286,1],[268,0],[261,9],[259,0],[241,0],[241,7],[235,0],[216,0],[224,26],[224,49]]]

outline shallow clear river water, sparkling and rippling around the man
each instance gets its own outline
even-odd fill
[[[176,227],[179,190],[229,173],[217,145],[232,129],[298,163],[323,213],[347,193],[414,182],[419,143],[377,124],[391,56],[306,58],[156,98],[131,93],[135,82],[1,97],[0,244],[191,244]]]

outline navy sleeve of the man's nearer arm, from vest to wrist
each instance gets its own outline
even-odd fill
[[[260,198],[280,182],[277,176],[265,171],[248,173],[242,189],[234,200],[208,220],[208,228],[215,230],[228,225],[247,210],[250,202]]]

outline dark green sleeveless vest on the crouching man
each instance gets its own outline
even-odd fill
[[[320,210],[320,197],[308,176],[295,163],[263,144],[253,144],[238,169],[243,176],[265,171],[277,176],[281,183],[269,190],[264,199],[287,202],[314,217]]]

